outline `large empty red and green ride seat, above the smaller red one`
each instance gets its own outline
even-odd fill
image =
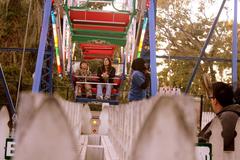
[[[85,43],[102,40],[120,46],[126,45],[126,36],[132,17],[129,12],[103,12],[71,8],[67,14],[71,21],[72,41]]]

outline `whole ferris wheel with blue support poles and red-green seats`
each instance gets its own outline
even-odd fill
[[[219,12],[214,20],[211,30],[197,63],[185,94],[189,92],[209,40],[218,22],[226,0],[223,0]],[[233,58],[232,58],[232,84],[237,87],[237,0],[235,2],[233,23]],[[52,94],[52,65],[55,59],[59,77],[67,76],[72,85],[84,83],[92,85],[93,97],[79,97],[75,95],[78,103],[109,103],[119,104],[119,92],[123,81],[130,73],[128,65],[133,59],[142,57],[144,45],[149,45],[150,55],[146,59],[150,62],[151,70],[151,96],[157,94],[156,71],[156,41],[155,41],[155,0],[64,0],[64,2],[46,0],[44,3],[43,21],[38,48],[37,62],[34,72],[32,92],[46,92]],[[50,48],[50,49],[49,49]],[[78,60],[75,60],[78,57]],[[80,57],[80,58],[79,58]],[[85,82],[78,82],[74,76],[74,66],[80,61],[98,63],[99,60],[110,58],[117,69],[113,78],[112,96],[110,100],[96,99],[96,85],[98,77],[93,73]],[[12,103],[2,68],[0,78],[9,102],[8,112],[11,119],[10,127],[15,127],[16,110]],[[86,78],[86,77],[85,77]]]

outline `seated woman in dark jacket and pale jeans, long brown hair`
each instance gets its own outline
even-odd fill
[[[110,58],[104,58],[103,64],[100,66],[97,70],[97,76],[99,77],[99,82],[101,83],[112,83],[113,77],[115,77],[115,68],[112,66],[112,62]],[[97,99],[101,100],[103,99],[103,87],[106,87],[106,94],[104,99],[110,99],[111,98],[111,89],[112,85],[110,84],[98,84],[97,85]]]

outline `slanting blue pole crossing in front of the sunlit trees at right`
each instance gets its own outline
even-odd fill
[[[218,11],[217,17],[214,19],[214,22],[213,22],[213,24],[212,24],[212,27],[211,27],[211,29],[210,29],[210,31],[209,31],[209,33],[208,33],[207,39],[206,39],[206,41],[205,41],[205,43],[204,43],[204,45],[203,45],[203,48],[201,49],[201,52],[200,52],[198,61],[197,61],[196,65],[195,65],[195,67],[194,67],[194,69],[193,69],[192,76],[191,76],[190,81],[189,81],[189,83],[188,83],[188,86],[187,86],[187,88],[186,88],[186,90],[185,90],[185,94],[187,94],[187,93],[189,92],[189,90],[190,90],[190,87],[191,87],[191,85],[192,85],[192,82],[193,82],[193,80],[194,80],[194,77],[195,77],[195,75],[196,75],[196,73],[197,73],[197,69],[198,69],[198,67],[199,67],[199,65],[200,65],[200,62],[201,62],[201,60],[202,60],[203,55],[205,54],[205,50],[206,50],[206,48],[207,48],[207,46],[208,46],[208,44],[209,44],[209,41],[210,41],[210,39],[211,39],[211,37],[212,37],[213,31],[214,31],[214,29],[215,29],[215,27],[216,27],[216,24],[217,24],[217,22],[218,22],[218,19],[219,19],[220,14],[221,14],[221,12],[222,12],[222,10],[223,10],[223,7],[224,7],[224,5],[225,5],[225,2],[226,2],[226,0],[223,0],[223,2],[222,2],[222,4],[221,4],[221,7],[220,7],[220,9],[219,9],[219,11]]]

